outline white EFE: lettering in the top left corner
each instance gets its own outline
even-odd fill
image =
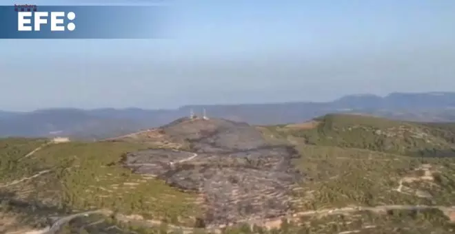
[[[34,27],[32,27],[32,18],[34,19]],[[28,18],[26,18],[28,17]],[[47,24],[49,12],[17,12],[17,30],[18,31],[39,31],[41,24]],[[70,21],[76,18],[74,12],[68,12],[66,18]],[[65,31],[64,23],[65,12],[50,12],[50,31]],[[66,28],[73,31],[76,25],[72,22],[66,25]]]

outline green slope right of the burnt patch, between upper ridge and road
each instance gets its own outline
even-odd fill
[[[303,157],[296,164],[312,178],[303,187],[314,191],[303,210],[382,204],[452,206],[455,200],[455,157],[418,158],[314,145],[298,149]],[[425,173],[429,180],[423,178]],[[406,192],[410,194],[394,192],[401,181],[411,188]]]

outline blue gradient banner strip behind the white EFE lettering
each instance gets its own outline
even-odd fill
[[[0,39],[154,39],[164,6],[0,6]]]

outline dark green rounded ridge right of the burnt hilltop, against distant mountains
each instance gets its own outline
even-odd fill
[[[370,149],[410,156],[447,156],[454,149],[453,123],[412,123],[374,116],[330,114],[312,128],[272,127],[279,136],[309,145]]]

